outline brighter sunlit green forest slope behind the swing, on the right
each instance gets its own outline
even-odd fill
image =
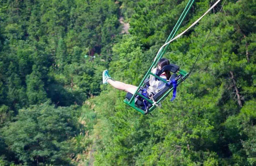
[[[211,3],[196,2],[180,31]],[[130,18],[131,34],[113,47],[109,70],[114,79],[138,85],[184,5],[185,1],[138,2]],[[254,165],[254,6],[240,1],[224,6],[189,80],[178,86],[173,102],[167,98],[152,112],[153,118],[122,106],[125,93],[112,87],[91,100],[100,119],[94,129],[100,135],[95,164]],[[174,41],[165,57],[189,71],[219,9]]]

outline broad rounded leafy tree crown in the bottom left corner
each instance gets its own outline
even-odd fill
[[[74,110],[55,109],[49,101],[21,109],[16,121],[2,128],[2,136],[23,163],[68,163],[72,145],[67,140],[77,133],[78,127]]]

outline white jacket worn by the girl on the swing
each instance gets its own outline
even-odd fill
[[[153,74],[156,74],[157,68],[152,69],[151,72]],[[167,79],[165,75],[161,75],[160,77],[163,78],[163,79]],[[161,80],[156,80],[156,77],[150,75],[149,89],[154,94],[156,94],[159,90],[161,90],[165,86],[165,84],[166,84],[165,82],[163,82]]]

